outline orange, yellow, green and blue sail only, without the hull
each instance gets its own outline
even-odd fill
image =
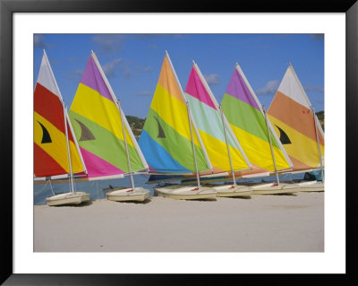
[[[165,56],[141,138],[141,150],[151,173],[192,174],[196,172],[191,126],[183,91],[169,57]],[[210,169],[200,136],[192,134],[199,171]]]

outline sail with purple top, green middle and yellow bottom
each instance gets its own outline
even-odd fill
[[[237,64],[227,85],[221,105],[234,134],[243,147],[243,152],[252,164],[252,170],[246,173],[269,174],[275,171],[268,128],[270,129],[277,170],[292,168],[291,161],[269,122],[268,126],[266,125],[260,101]]]

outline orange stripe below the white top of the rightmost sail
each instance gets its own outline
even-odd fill
[[[316,130],[314,128],[314,119],[309,108],[291,100],[284,93],[277,91],[275,104],[269,107],[269,115],[285,122],[298,132],[306,135],[314,141],[316,140]],[[287,108],[283,108],[287,107]],[[307,126],[313,126],[307,128]],[[320,135],[320,143],[324,145],[324,140]]]

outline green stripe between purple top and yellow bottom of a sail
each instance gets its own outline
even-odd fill
[[[243,100],[238,100],[227,93],[224,95],[224,98],[221,101],[221,106],[230,124],[237,126],[244,131],[268,142],[268,127],[266,126],[265,117],[263,117],[260,110],[253,108],[250,104],[244,102]],[[278,146],[272,132],[270,133],[272,145],[278,149],[281,149]],[[240,138],[238,139],[240,141]]]

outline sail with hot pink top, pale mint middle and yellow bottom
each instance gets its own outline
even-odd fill
[[[226,121],[225,134],[217,100],[196,64],[192,66],[184,94],[198,126],[202,142],[208,152],[214,173],[232,171],[231,164],[234,170],[251,169],[249,160],[244,155],[240,143],[234,137],[234,133]],[[226,138],[230,148],[230,156],[227,152]]]

